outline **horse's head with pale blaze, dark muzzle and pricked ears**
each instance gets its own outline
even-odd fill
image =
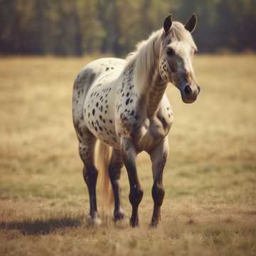
[[[196,15],[193,14],[183,26],[177,21],[172,22],[169,15],[164,20],[161,36],[161,78],[173,83],[181,91],[182,100],[186,103],[194,102],[200,92],[192,65],[197,48],[191,33],[196,28],[196,21]]]

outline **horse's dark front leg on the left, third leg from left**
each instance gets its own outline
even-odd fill
[[[137,175],[137,153],[134,145],[132,144],[132,140],[129,138],[122,137],[121,146],[122,158],[124,161],[124,166],[127,169],[130,186],[129,201],[132,204],[132,216],[130,219],[130,224],[132,227],[135,227],[139,225],[138,208],[143,196],[142,187],[139,183],[139,178]]]

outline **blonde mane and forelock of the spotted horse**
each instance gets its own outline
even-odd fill
[[[127,55],[127,65],[125,66],[125,69],[133,66],[134,82],[135,86],[137,87],[137,92],[139,93],[142,92],[146,85],[149,85],[149,73],[154,72],[154,70],[151,69],[154,68],[154,64],[158,63],[159,61],[157,60],[157,62],[155,62],[155,59],[156,56],[159,58],[161,46],[159,44],[159,49],[157,49],[159,52],[157,55],[154,46],[156,43],[160,43],[162,34],[163,28],[159,29],[158,31],[154,31],[151,33],[151,36],[149,36],[147,40],[141,41],[137,44],[136,50],[134,52]],[[171,41],[186,41],[186,43],[189,43],[193,48],[197,50],[191,33],[186,31],[186,28],[184,28],[183,24],[178,21],[174,21],[172,23],[171,30],[167,38],[171,39]]]

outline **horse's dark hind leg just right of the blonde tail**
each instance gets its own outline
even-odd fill
[[[113,149],[110,159],[109,175],[110,181],[114,193],[114,221],[124,218],[124,213],[120,203],[120,187],[119,178],[121,174],[121,168],[123,166],[122,154],[118,149]]]

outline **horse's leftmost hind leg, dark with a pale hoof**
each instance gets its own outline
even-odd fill
[[[85,137],[85,138],[84,138]],[[97,169],[94,164],[94,149],[96,138],[87,132],[83,136],[83,142],[79,143],[79,154],[84,168],[82,171],[85,183],[88,188],[89,198],[90,198],[90,218],[92,224],[99,225],[101,220],[97,213],[97,200],[96,200],[96,183],[97,183]]]

